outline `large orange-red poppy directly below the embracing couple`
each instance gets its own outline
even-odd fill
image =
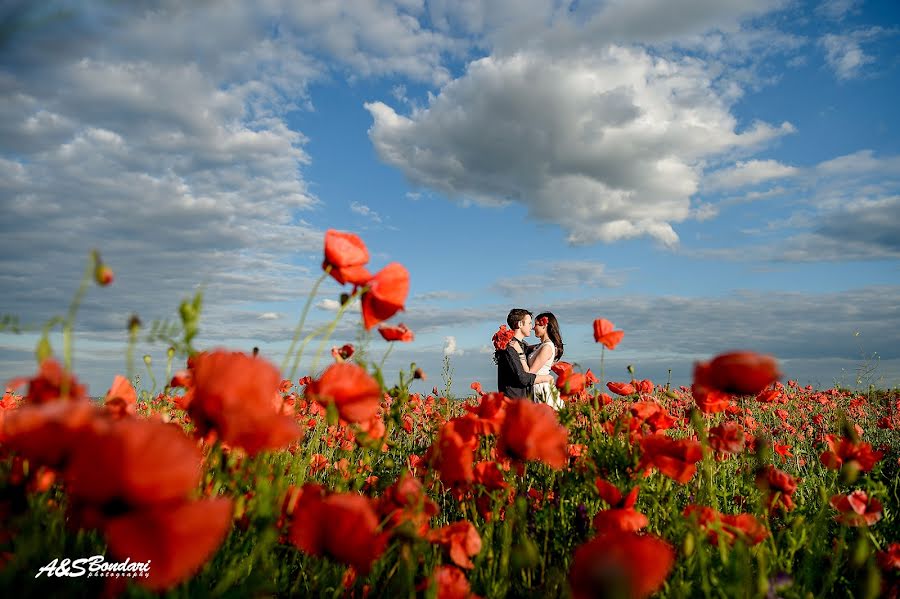
[[[506,408],[497,445],[515,460],[537,460],[559,469],[568,462],[568,435],[553,408],[518,399],[510,401]]]

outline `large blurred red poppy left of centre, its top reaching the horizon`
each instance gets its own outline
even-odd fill
[[[222,442],[253,455],[279,449],[300,436],[290,416],[280,413],[281,375],[271,363],[240,352],[215,350],[191,360],[193,400],[188,413],[200,435],[216,431]]]

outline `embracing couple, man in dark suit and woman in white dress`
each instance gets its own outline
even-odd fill
[[[553,363],[563,354],[559,323],[551,312],[533,317],[524,308],[514,308],[506,317],[511,334],[505,347],[496,345],[497,388],[507,397],[526,397],[554,410],[563,406],[559,389],[550,375]],[[529,345],[525,338],[534,331],[540,343]]]

